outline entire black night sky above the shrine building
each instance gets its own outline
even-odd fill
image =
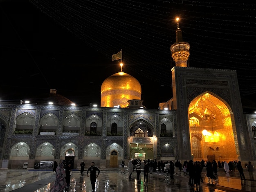
[[[170,46],[180,17],[190,67],[236,70],[243,105],[255,105],[256,3],[243,1],[1,0],[0,99],[56,89],[100,105],[103,81],[123,71],[141,83],[143,105],[172,98]],[[252,101],[251,101],[252,100]]]

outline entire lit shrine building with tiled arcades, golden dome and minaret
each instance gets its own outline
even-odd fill
[[[1,168],[72,159],[119,167],[129,159],[256,163],[256,114],[244,114],[236,71],[187,66],[190,45],[178,26],[171,54],[173,98],[142,105],[141,86],[124,73],[101,85],[101,107],[76,106],[50,90],[46,103],[0,103]],[[48,165],[49,164],[49,165]]]

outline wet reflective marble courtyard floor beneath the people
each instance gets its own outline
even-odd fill
[[[218,172],[217,179],[208,181],[206,172],[202,172],[203,183],[200,192],[256,192],[256,181],[240,180],[239,173],[225,174]],[[249,177],[245,173],[246,178]],[[254,175],[256,178],[256,175]],[[49,192],[55,181],[52,171],[0,171],[0,192]],[[79,171],[73,171],[68,192],[92,192],[90,177],[81,176]],[[175,174],[169,180],[160,172],[153,172],[148,176],[148,186],[144,186],[143,173],[137,183],[136,172],[132,173],[132,180],[127,174],[118,169],[102,169],[96,181],[96,192],[195,192],[195,187],[189,186],[189,176],[183,173]]]

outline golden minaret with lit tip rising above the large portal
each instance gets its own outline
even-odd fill
[[[176,43],[171,45],[172,58],[175,61],[177,67],[188,67],[187,60],[189,58],[189,48],[188,42],[182,41],[182,30],[179,26],[179,18],[177,20],[176,29]]]

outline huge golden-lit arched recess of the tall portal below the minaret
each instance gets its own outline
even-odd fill
[[[202,94],[192,100],[188,113],[194,161],[229,162],[238,158],[235,123],[231,121],[231,109],[223,101],[212,94]]]

